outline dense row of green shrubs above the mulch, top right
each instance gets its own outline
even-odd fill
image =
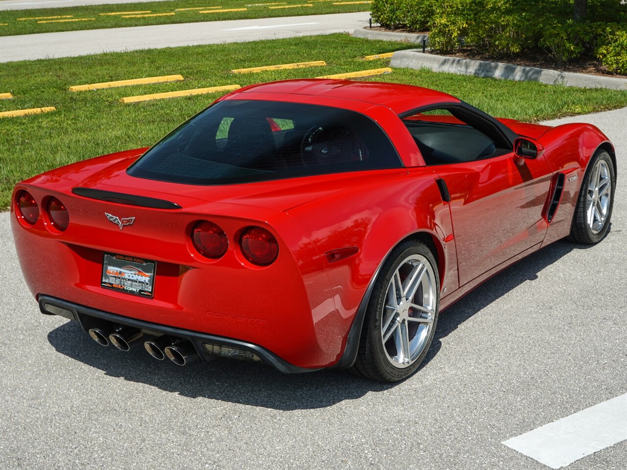
[[[374,0],[372,18],[388,28],[429,31],[434,51],[451,53],[460,42],[492,56],[511,56],[543,48],[557,63],[596,50],[608,68],[621,67],[624,36],[610,39],[608,23],[627,30],[627,3],[589,0],[584,21],[572,19],[572,0]],[[623,33],[621,33],[623,34]],[[619,48],[619,51],[614,51]]]

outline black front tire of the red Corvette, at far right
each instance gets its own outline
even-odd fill
[[[589,185],[591,179],[594,176],[594,169],[599,160],[605,162],[609,169],[609,175],[611,178],[611,192],[609,194],[608,211],[604,219],[603,227],[599,231],[593,231],[587,218],[587,199],[589,194]],[[612,216],[612,209],[614,206],[614,192],[616,190],[616,170],[614,169],[614,162],[609,156],[608,152],[603,149],[597,150],[593,157],[590,159],[587,165],[586,173],[581,182],[581,191],[579,191],[579,197],[577,198],[577,206],[575,207],[574,215],[572,216],[571,225],[571,240],[577,243],[595,244],[599,243],[604,236],[608,233],[610,219]]]

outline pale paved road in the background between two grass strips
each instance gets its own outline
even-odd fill
[[[3,36],[0,62],[342,33],[363,28],[368,18],[361,11]]]

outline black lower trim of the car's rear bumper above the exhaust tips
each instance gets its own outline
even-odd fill
[[[126,325],[132,326],[134,328],[139,328],[144,332],[153,333],[155,335],[169,335],[171,337],[189,340],[194,345],[199,356],[204,361],[209,361],[216,358],[215,355],[210,354],[206,351],[204,345],[218,345],[250,352],[258,357],[262,363],[271,365],[272,367],[283,373],[312,372],[313,370],[317,370],[313,368],[304,368],[293,365],[278,357],[275,353],[267,350],[266,348],[255,345],[253,343],[233,340],[231,338],[208,335],[206,333],[193,332],[190,330],[184,330],[182,328],[174,328],[172,326],[158,325],[157,323],[150,323],[149,321],[135,320],[134,318],[128,318],[122,315],[115,315],[114,313],[97,310],[95,308],[90,308],[84,305],[79,305],[77,303],[60,300],[58,298],[47,295],[39,296],[39,305],[41,313],[44,313],[45,315],[60,315],[68,318],[69,320],[78,321],[85,331],[89,330],[89,328],[92,328],[93,326],[97,326],[98,323],[108,321],[111,323],[116,323],[118,325]],[[50,306],[53,307],[50,310],[55,310],[54,307],[62,310],[56,310],[55,313],[52,313],[50,310],[48,310]]]

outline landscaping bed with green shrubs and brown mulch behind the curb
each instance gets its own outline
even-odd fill
[[[374,0],[372,20],[428,31],[438,55],[627,76],[624,0]]]

